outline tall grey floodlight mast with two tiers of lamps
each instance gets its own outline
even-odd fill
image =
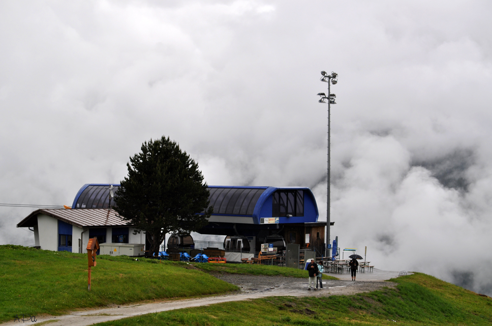
[[[328,155],[327,155],[327,168],[326,168],[326,238],[325,238],[325,257],[329,257],[328,245],[330,245],[330,104],[337,104],[335,94],[330,92],[330,84],[336,84],[338,82],[338,74],[332,71],[331,75],[328,75],[326,71],[322,71],[320,81],[328,83],[328,96],[325,93],[318,93],[319,103],[328,103]],[[328,100],[328,102],[325,102]],[[332,250],[337,250],[337,248],[332,248]],[[335,251],[336,252],[336,251]]]

